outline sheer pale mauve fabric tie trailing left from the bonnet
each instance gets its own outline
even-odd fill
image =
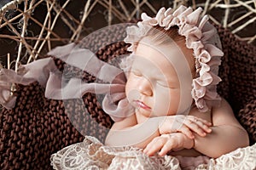
[[[11,83],[28,85],[37,81],[45,88],[45,97],[49,99],[81,99],[86,93],[105,94],[102,108],[113,118],[113,121],[120,121],[134,113],[133,107],[125,97],[124,71],[97,59],[90,50],[79,48],[74,43],[57,47],[50,51],[49,55],[81,71],[89,72],[101,82],[87,83],[77,77],[72,77],[67,81],[63,73],[57,69],[52,58],[38,59],[28,65],[21,65],[17,73],[13,70],[1,69],[1,105],[6,108],[15,106],[15,96],[10,95]]]

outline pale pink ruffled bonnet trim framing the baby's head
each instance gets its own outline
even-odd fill
[[[202,8],[193,11],[180,6],[174,11],[172,8],[160,8],[154,18],[143,13],[137,26],[126,29],[125,42],[131,43],[128,50],[132,52],[152,26],[161,26],[165,30],[178,26],[178,34],[185,37],[186,47],[194,51],[197,76],[192,81],[192,98],[199,111],[205,112],[221,99],[216,86],[221,81],[218,65],[224,53],[216,28],[208,22],[207,15],[201,17],[201,12]]]

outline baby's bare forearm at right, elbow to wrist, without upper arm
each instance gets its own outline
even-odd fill
[[[206,156],[217,158],[239,147],[249,144],[247,132],[241,127],[221,125],[212,127],[206,137],[195,134],[195,150]]]

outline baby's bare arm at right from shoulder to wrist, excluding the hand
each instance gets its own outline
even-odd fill
[[[222,156],[249,144],[246,130],[241,127],[228,102],[222,99],[212,108],[212,133],[202,138],[195,134],[195,150],[210,157]]]

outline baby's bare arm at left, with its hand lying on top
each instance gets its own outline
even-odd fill
[[[199,133],[201,136],[205,136],[204,134],[201,134],[204,127],[197,126],[193,121],[193,118],[195,117],[189,116],[187,120],[186,116],[143,117],[134,114],[132,116],[125,117],[125,119],[120,122],[113,123],[113,127],[111,127],[108,133],[105,144],[112,146],[132,145],[139,148],[145,148],[152,139],[159,137],[160,134],[163,133],[176,133],[177,131],[180,131],[184,132],[184,134],[191,138],[189,134],[191,133],[192,135],[190,130],[193,129],[195,129],[195,132]],[[196,120],[201,122],[201,119],[196,118]],[[207,122],[201,122],[202,125],[204,123],[207,124]],[[176,126],[174,126],[175,124]],[[205,126],[207,127],[207,125]],[[176,127],[178,127],[179,130],[177,130]],[[195,137],[193,136],[192,139],[194,138]]]

